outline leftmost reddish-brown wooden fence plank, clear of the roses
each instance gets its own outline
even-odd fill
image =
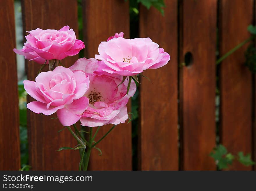
[[[20,168],[19,108],[13,1],[0,1],[0,170]]]

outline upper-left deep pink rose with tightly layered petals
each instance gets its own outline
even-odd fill
[[[39,64],[45,63],[45,60],[62,60],[67,56],[74,56],[85,47],[81,40],[76,39],[75,32],[69,26],[63,26],[58,31],[37,28],[29,31],[29,35],[25,37],[27,42],[23,49],[13,51]]]

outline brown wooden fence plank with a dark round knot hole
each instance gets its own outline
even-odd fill
[[[180,60],[187,52],[193,56],[193,63],[179,73],[181,169],[214,170],[209,153],[215,146],[217,1],[183,1],[181,14]]]

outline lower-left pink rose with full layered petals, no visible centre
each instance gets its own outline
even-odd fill
[[[34,81],[25,80],[26,92],[37,101],[27,104],[35,113],[51,115],[57,111],[64,126],[76,123],[89,104],[83,95],[89,88],[89,77],[84,72],[62,66],[53,71],[41,72]]]

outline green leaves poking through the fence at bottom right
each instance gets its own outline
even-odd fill
[[[245,166],[254,165],[255,163],[251,160],[251,155],[243,155],[243,152],[239,152],[237,156],[232,155],[227,152],[227,149],[219,144],[217,147],[213,149],[210,153],[210,156],[214,158],[216,165],[219,170],[227,169],[229,165],[232,165],[233,161],[237,159],[241,164]]]

